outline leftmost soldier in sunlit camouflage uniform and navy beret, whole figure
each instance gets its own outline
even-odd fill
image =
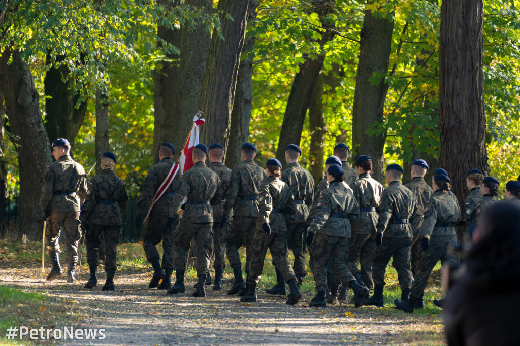
[[[63,227],[67,246],[67,282],[72,284],[76,282],[74,270],[77,243],[81,239],[80,210],[87,195],[87,179],[83,166],[70,157],[70,143],[67,139],[58,138],[52,148],[56,162],[47,167],[40,197],[40,208],[47,219],[45,243],[53,262],[47,280],[52,281],[63,273],[59,259],[59,238]]]

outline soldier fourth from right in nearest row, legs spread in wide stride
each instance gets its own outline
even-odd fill
[[[289,284],[291,294],[288,305],[295,305],[302,298],[298,289],[296,276],[287,259],[287,226],[284,215],[295,215],[296,205],[289,186],[280,180],[282,165],[276,158],[267,160],[267,179],[260,188],[259,210],[260,217],[256,221],[256,231],[251,244],[251,265],[249,267],[248,292],[240,301],[256,301],[256,285],[262,277],[264,260],[267,249],[271,252],[275,268],[280,272],[283,280]]]

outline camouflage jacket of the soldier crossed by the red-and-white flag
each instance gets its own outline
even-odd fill
[[[173,166],[173,160],[170,157],[163,158],[158,164],[153,165],[148,170],[145,183],[142,186],[141,195],[137,200],[137,214],[146,215],[150,203],[152,202],[155,192],[159,189],[162,182],[170,172]],[[161,198],[153,205],[150,217],[153,215],[168,215],[172,204],[174,192],[177,191],[180,184],[180,169],[173,178],[172,183],[166,189]]]

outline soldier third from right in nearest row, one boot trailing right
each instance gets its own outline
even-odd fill
[[[350,220],[359,218],[359,205],[354,195],[343,182],[343,169],[330,165],[327,169],[330,186],[319,197],[316,218],[310,223],[307,235],[309,253],[314,258],[311,268],[316,281],[316,296],[310,307],[325,307],[327,270],[330,268],[333,280],[342,282],[354,290],[356,308],[361,306],[363,297],[369,292],[359,285],[347,268],[346,257],[350,241]],[[316,236],[315,236],[316,234]]]

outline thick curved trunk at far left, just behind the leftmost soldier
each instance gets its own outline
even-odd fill
[[[12,62],[8,64],[10,58]],[[10,48],[4,50],[0,57],[0,83],[4,90],[9,125],[15,136],[14,145],[18,149],[19,228],[29,237],[40,239],[43,217],[38,204],[43,176],[51,162],[50,143],[29,64]]]

